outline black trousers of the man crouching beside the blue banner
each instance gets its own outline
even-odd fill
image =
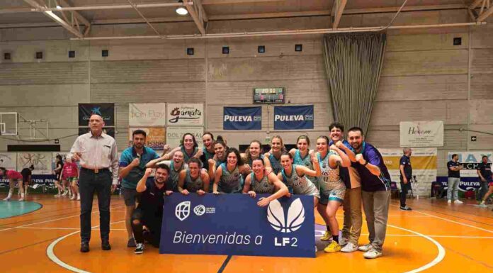
[[[159,247],[162,217],[149,216],[149,214],[144,213],[142,208],[137,207],[132,213],[131,223],[135,243],[142,244],[144,241],[147,241],[154,247]],[[144,225],[149,231],[144,232]]]

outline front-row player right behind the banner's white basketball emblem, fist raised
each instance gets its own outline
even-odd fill
[[[318,153],[317,153],[318,155]],[[320,199],[318,187],[308,178],[308,175],[315,177],[322,174],[317,156],[313,156],[314,169],[309,169],[302,165],[293,165],[293,156],[286,152],[280,156],[280,164],[283,169],[278,174],[278,178],[288,186],[290,194],[301,194],[313,196],[313,204],[317,207]],[[290,196],[288,194],[288,196]]]

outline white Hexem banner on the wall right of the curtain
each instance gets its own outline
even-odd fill
[[[443,146],[443,121],[401,121],[400,147]]]

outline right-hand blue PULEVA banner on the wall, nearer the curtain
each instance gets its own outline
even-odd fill
[[[313,106],[274,106],[274,130],[313,129]]]

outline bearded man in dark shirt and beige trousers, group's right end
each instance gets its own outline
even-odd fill
[[[390,205],[390,174],[383,163],[380,152],[365,143],[363,130],[353,127],[348,130],[348,142],[356,154],[354,166],[361,178],[361,199],[365,211],[370,243],[358,247],[363,257],[375,259],[382,255]]]

